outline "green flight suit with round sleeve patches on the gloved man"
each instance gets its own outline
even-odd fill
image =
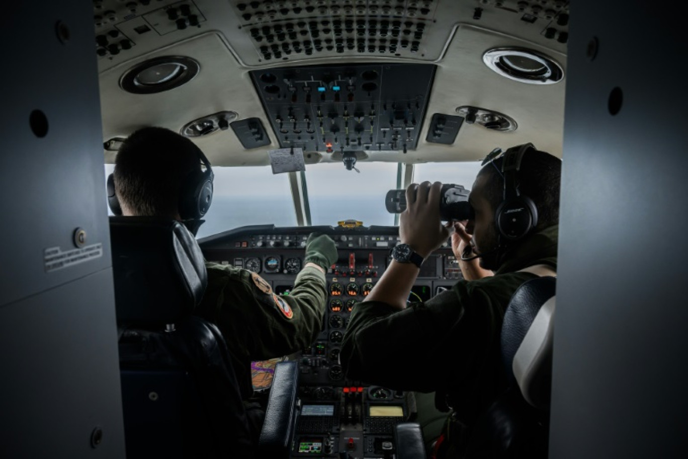
[[[308,348],[323,325],[325,275],[308,267],[289,295],[275,295],[259,275],[207,262],[208,288],[194,314],[217,325],[233,356],[244,400],[253,392],[251,361],[274,359]]]

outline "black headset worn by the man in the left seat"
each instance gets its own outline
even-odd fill
[[[213,169],[208,158],[200,149],[196,149],[200,161],[205,166],[205,170],[194,169],[186,175],[180,189],[179,215],[182,220],[200,220],[213,202]],[[115,193],[114,176],[110,174],[107,178],[107,204],[115,215],[122,215],[122,207]]]

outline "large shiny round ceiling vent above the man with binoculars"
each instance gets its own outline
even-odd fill
[[[563,69],[554,59],[526,48],[495,47],[482,60],[498,74],[521,83],[552,85],[563,78]]]

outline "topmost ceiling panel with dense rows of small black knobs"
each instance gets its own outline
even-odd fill
[[[437,3],[237,1],[234,6],[241,27],[265,62],[322,57],[333,52],[434,60],[439,56],[427,52],[425,38],[434,32]]]

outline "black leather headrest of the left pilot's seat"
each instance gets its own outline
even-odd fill
[[[118,323],[173,323],[208,284],[196,239],[176,220],[110,217]]]

